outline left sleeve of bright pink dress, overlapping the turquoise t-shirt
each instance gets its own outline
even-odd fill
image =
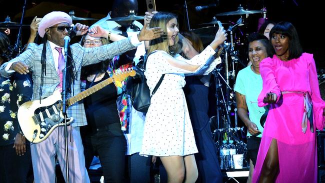
[[[260,63],[259,63],[259,71],[260,75],[263,79],[263,88],[260,91],[258,98],[257,98],[257,104],[259,107],[265,106],[268,103],[264,103],[263,99],[266,96],[266,93],[268,92],[273,92],[276,94],[276,102],[280,98],[281,91],[279,89],[279,86],[276,82],[275,79],[275,63],[274,60],[270,57],[264,58]]]

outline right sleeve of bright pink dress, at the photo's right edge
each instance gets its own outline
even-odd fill
[[[323,108],[325,107],[325,102],[321,99],[318,79],[317,79],[317,71],[315,61],[312,57],[312,54],[304,54],[305,59],[309,62],[308,70],[309,70],[309,83],[311,93],[311,101],[312,101],[312,112],[314,116],[314,124],[316,124],[316,128],[322,130],[324,127],[324,116],[323,116]]]

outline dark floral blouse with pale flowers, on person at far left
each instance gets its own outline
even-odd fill
[[[12,144],[19,132],[18,106],[31,99],[32,83],[28,74],[0,76],[0,146]]]

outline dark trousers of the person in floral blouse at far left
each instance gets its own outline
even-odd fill
[[[27,182],[28,175],[31,173],[32,176],[29,142],[26,142],[26,152],[21,156],[16,154],[12,146],[13,144],[0,146],[0,182]],[[28,182],[30,181],[32,180]]]

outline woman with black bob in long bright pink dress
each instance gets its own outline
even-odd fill
[[[270,103],[252,182],[316,182],[316,128],[323,129],[325,102],[312,54],[303,53],[289,22],[270,31],[275,50],[260,62],[258,106]]]

